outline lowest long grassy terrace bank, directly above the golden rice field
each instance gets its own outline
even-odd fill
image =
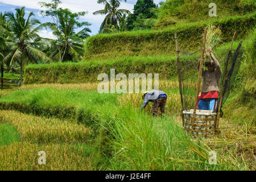
[[[234,47],[238,41],[234,42]],[[214,54],[221,65],[228,52],[230,43],[217,47]],[[181,72],[183,78],[194,77],[197,71],[197,59],[200,51],[191,56],[181,55]],[[115,74],[125,73],[159,73],[160,79],[177,77],[176,56],[125,57],[116,60],[85,61],[80,63],[54,63],[28,65],[25,71],[24,84],[44,83],[85,83],[96,82],[98,74],[115,69]]]

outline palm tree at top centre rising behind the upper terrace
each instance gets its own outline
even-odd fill
[[[95,11],[94,15],[106,15],[104,21],[101,24],[100,32],[103,32],[104,28],[108,27],[108,24],[115,26],[119,29],[118,23],[122,22],[124,14],[130,14],[129,10],[118,9],[120,1],[118,0],[98,0],[98,3],[105,5],[104,10]]]

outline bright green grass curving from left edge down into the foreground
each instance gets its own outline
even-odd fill
[[[80,111],[82,114],[79,117],[85,119],[83,124],[92,127],[96,138],[92,138],[94,146],[85,147],[84,150],[86,155],[96,155],[94,165],[98,164],[98,169],[224,170],[243,167],[221,159],[218,165],[210,165],[209,148],[201,143],[201,139],[194,142],[192,136],[174,122],[174,117],[166,115],[161,119],[153,118],[134,109],[129,101],[126,105],[119,105],[117,98],[117,94],[78,90],[23,90],[1,98],[0,106],[5,109],[2,107],[4,103],[11,105],[22,102],[26,107],[48,105],[62,109],[70,106],[80,110],[82,107],[87,108]],[[32,102],[34,105],[31,105]],[[24,107],[14,109],[22,111]],[[87,114],[88,110],[91,113]],[[97,120],[92,119],[91,115],[97,115]],[[88,123],[88,120],[92,122]]]

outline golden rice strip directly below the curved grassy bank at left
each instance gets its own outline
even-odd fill
[[[15,130],[18,130],[20,138],[28,142],[90,142],[93,135],[92,130],[84,125],[77,124],[75,121],[40,118],[22,114],[18,111],[1,110],[0,112],[0,124],[8,126],[10,130],[9,135],[16,137],[17,134],[14,132],[13,127],[4,123],[11,123],[15,126]],[[1,129],[1,131],[3,130]]]

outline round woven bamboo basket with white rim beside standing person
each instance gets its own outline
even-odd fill
[[[193,135],[213,135],[216,132],[217,113],[206,110],[196,110],[195,122],[193,122],[193,109],[183,111],[184,129]]]

